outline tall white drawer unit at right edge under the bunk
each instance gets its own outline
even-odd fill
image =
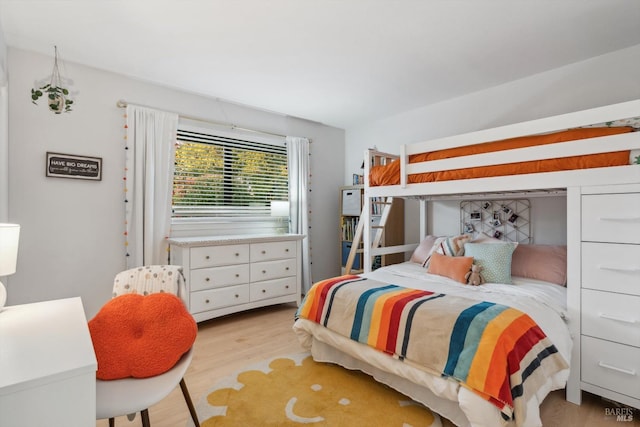
[[[640,408],[640,185],[583,187],[580,388]]]

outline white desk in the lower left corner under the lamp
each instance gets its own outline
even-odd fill
[[[80,298],[0,311],[0,426],[87,427],[96,358]]]

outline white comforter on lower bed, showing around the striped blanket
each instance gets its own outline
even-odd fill
[[[564,287],[522,278],[514,278],[512,285],[487,283],[468,286],[442,276],[427,274],[424,268],[413,263],[384,267],[366,276],[408,288],[460,295],[521,310],[536,321],[567,363],[571,360],[572,341],[566,322]],[[371,347],[334,334],[314,322],[299,319],[294,330],[302,345],[310,349],[317,360],[361,369],[421,401],[459,426],[495,427],[507,424],[495,406],[451,379],[408,366]],[[360,364],[359,361],[365,363]],[[550,391],[563,388],[568,375],[569,370],[565,370],[549,378],[536,399],[529,403],[527,419],[516,420],[516,425],[541,426],[540,403]]]

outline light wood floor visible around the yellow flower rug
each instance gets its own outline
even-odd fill
[[[262,359],[303,351],[291,329],[294,313],[294,305],[283,304],[200,323],[193,361],[185,377],[194,404],[227,374]],[[619,422],[606,416],[605,408],[611,407],[611,403],[588,393],[583,393],[581,406],[573,405],[559,390],[543,402],[542,421],[545,427],[640,427],[640,411],[635,411],[632,422]],[[180,388],[149,408],[149,416],[152,427],[184,427],[189,412]],[[140,425],[139,416],[132,422],[126,417],[116,420],[116,426]],[[107,427],[108,423],[100,420],[96,426]],[[444,426],[453,424],[444,420]]]

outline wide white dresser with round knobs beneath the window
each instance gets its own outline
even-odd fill
[[[285,302],[300,304],[299,234],[169,239],[171,264],[183,267],[196,321]]]

